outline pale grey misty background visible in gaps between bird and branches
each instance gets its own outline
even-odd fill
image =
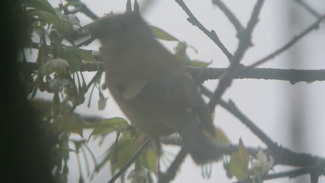
[[[57,7],[60,1],[50,0],[53,7]],[[83,0],[90,10],[98,16],[110,13],[123,13],[125,11],[125,1],[117,0]],[[132,1],[133,2],[133,1]],[[226,68],[229,66],[227,57],[198,27],[190,24],[186,18],[186,13],[174,1],[145,1],[139,0],[142,16],[150,24],[164,29],[169,34],[186,42],[198,50],[188,49],[188,54],[192,59],[210,62],[209,67]],[[212,4],[211,1],[184,1],[194,16],[208,29],[214,30],[221,42],[230,52],[234,53],[238,46],[236,30],[229,22],[228,18]],[[309,0],[312,9],[320,15],[325,13],[325,1]],[[245,26],[251,16],[252,9],[256,1],[227,0],[223,3],[228,6]],[[92,22],[83,14],[78,13],[78,18],[82,24]],[[246,52],[242,64],[249,66],[258,59],[272,53],[282,45],[301,33],[317,18],[294,0],[266,1],[259,22],[252,35],[253,46]],[[171,52],[177,42],[161,41]],[[99,49],[99,42],[82,47],[84,49]],[[36,57],[35,52],[29,53],[29,60]],[[278,69],[305,69],[320,70],[325,69],[325,21],[320,23],[319,29],[311,32],[300,40],[297,44],[276,56],[269,62],[259,66],[261,68]],[[94,72],[84,74],[88,82]],[[218,80],[209,80],[204,83],[208,88],[215,89]],[[232,86],[226,90],[222,99],[231,99],[238,108],[267,135],[278,144],[288,147],[301,153],[311,153],[325,157],[325,141],[323,133],[325,129],[325,83],[315,81],[312,83],[299,82],[290,84],[288,81],[279,80],[257,80],[257,79],[237,79]],[[89,92],[88,92],[89,95]],[[87,115],[98,115],[104,118],[121,116],[125,117],[118,109],[108,90],[104,95],[109,97],[106,109],[98,110],[98,95],[92,96],[90,108],[86,104],[78,106],[77,113]],[[36,98],[52,99],[52,95],[38,93]],[[87,95],[86,95],[87,101]],[[244,145],[253,147],[266,147],[261,140],[256,138],[249,129],[220,106],[215,111],[214,124],[220,127],[229,137],[231,142],[238,143],[242,138]],[[84,137],[88,138],[90,131],[84,132]],[[71,135],[71,138],[80,138]],[[107,138],[103,145],[99,146],[99,140],[91,139],[88,146],[99,159],[104,151],[114,142],[115,137]],[[107,144],[107,146],[105,145]],[[164,149],[172,154],[177,154],[178,148],[164,146]],[[69,182],[79,180],[79,169],[77,168],[77,158],[71,153],[69,160],[70,173]],[[73,166],[76,166],[75,168]],[[109,166],[107,171],[90,181],[89,177],[84,177],[86,182],[107,182],[111,175]],[[287,169],[287,167],[275,167],[274,171]],[[85,171],[85,170],[82,170]],[[117,180],[118,182],[119,180]],[[235,179],[226,177],[222,162],[213,164],[210,179],[203,179],[201,167],[195,165],[190,157],[180,167],[180,171],[173,182],[232,182]],[[276,179],[269,182],[309,182],[309,175],[299,176],[293,179]],[[325,182],[324,177],[320,177],[319,182]]]

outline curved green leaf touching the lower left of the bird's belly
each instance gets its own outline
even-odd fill
[[[108,119],[103,119],[96,125],[92,130],[89,139],[92,135],[107,135],[114,131],[121,131],[126,129],[128,126],[127,121],[121,117],[113,117]],[[89,141],[88,139],[88,141]]]

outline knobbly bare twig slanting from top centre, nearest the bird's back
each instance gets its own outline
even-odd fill
[[[212,30],[208,31],[206,27],[202,25],[202,23],[192,14],[192,12],[187,8],[183,0],[175,0],[175,2],[186,12],[188,15],[187,21],[189,21],[192,25],[197,26],[200,30],[206,34],[220,49],[221,51],[231,59],[233,54],[228,51],[228,49],[222,44],[217,34]]]

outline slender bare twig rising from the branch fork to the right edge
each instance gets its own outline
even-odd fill
[[[291,41],[289,41],[287,44],[283,45],[281,48],[279,48],[278,50],[274,51],[273,53],[269,54],[268,56],[258,60],[257,62],[255,62],[254,64],[252,64],[251,66],[244,68],[248,69],[248,68],[253,68],[256,67],[258,65],[261,65],[265,62],[267,62],[269,59],[274,58],[276,55],[284,52],[285,50],[287,50],[288,48],[290,48],[291,46],[293,46],[297,41],[299,41],[301,38],[303,38],[305,35],[307,35],[308,33],[310,33],[311,31],[313,31],[314,29],[317,29],[319,27],[319,23],[325,18],[325,14],[323,16],[321,16],[320,18],[318,18],[318,20],[315,23],[312,23],[311,25],[309,25],[301,34],[297,35],[294,37],[294,39],[292,39]]]

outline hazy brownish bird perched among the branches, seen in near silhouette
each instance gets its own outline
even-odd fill
[[[155,141],[178,132],[197,164],[220,157],[211,113],[190,74],[139,14],[107,16],[90,32],[102,43],[106,85],[131,123]]]

